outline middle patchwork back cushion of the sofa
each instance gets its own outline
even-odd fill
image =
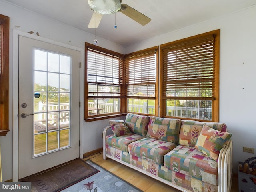
[[[150,117],[147,137],[178,144],[181,120]]]

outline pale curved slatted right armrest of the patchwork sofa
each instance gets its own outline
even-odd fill
[[[233,141],[230,140],[220,150],[218,158],[218,191],[230,192],[232,181],[232,145]]]

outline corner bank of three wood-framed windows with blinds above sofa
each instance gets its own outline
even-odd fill
[[[133,112],[218,122],[219,36],[160,45],[159,82],[158,46],[123,56],[86,43],[85,119]]]

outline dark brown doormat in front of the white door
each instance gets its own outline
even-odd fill
[[[32,182],[32,192],[58,192],[99,172],[81,159],[20,179]],[[76,192],[76,191],[72,191]]]

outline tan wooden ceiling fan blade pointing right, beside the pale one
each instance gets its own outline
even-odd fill
[[[134,8],[128,6],[127,4],[121,5],[120,12],[122,12],[123,14],[130,17],[131,19],[133,19],[141,25],[146,25],[151,21],[151,19],[148,18],[146,15],[142,14],[141,12],[138,12]]]

